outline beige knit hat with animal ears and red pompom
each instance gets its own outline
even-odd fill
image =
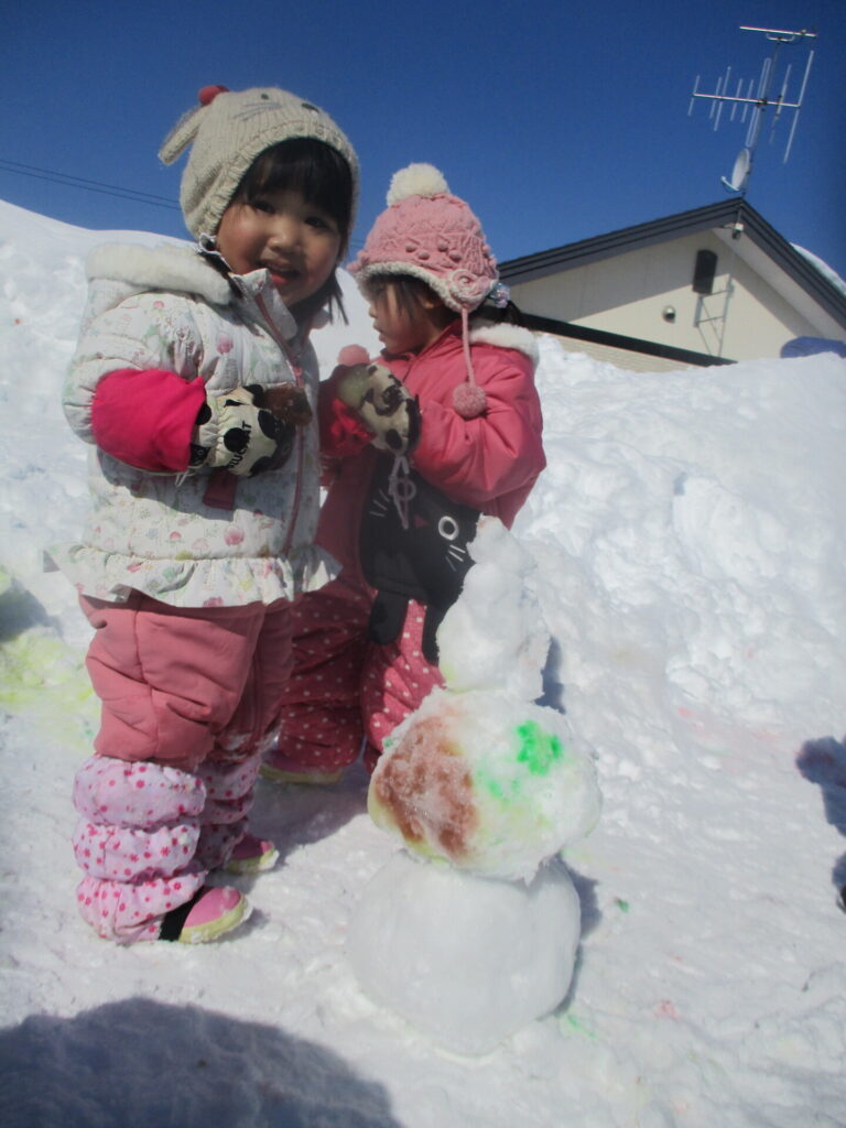
[[[238,92],[224,86],[206,86],[200,91],[199,102],[183,114],[159,150],[159,159],[171,165],[191,146],[179,203],[195,239],[217,233],[223,212],[256,157],[271,146],[293,138],[323,141],[350,166],[352,230],[359,195],[359,161],[328,114],[273,86]]]

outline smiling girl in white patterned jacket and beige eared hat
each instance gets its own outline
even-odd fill
[[[275,88],[201,90],[160,156],[188,146],[196,246],[92,253],[64,393],[92,444],[92,512],[54,556],[95,627],[103,703],[74,783],[78,901],[120,943],[213,940],[245,917],[240,892],[206,875],[275,861],[246,816],[289,676],[291,601],[334,574],[314,544],[308,333],[340,301],[355,153]]]

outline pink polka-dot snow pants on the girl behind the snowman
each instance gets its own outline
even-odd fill
[[[343,572],[294,605],[293,670],[274,767],[333,772],[354,763],[367,737],[364,763],[372,770],[386,737],[443,685],[422,653],[425,608],[411,600],[399,637],[377,645],[368,637],[372,599]]]

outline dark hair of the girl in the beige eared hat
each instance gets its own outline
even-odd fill
[[[315,138],[280,141],[256,157],[244,174],[232,202],[250,203],[263,193],[279,188],[299,192],[303,200],[332,217],[341,236],[341,258],[350,243],[353,206],[352,170],[341,153]],[[346,321],[341,284],[334,270],[320,289],[298,302],[292,312],[303,323],[324,306],[328,307],[331,316],[337,310]]]

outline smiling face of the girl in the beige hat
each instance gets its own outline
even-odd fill
[[[266,267],[290,308],[310,298],[341,253],[337,224],[296,190],[275,190],[233,202],[218,228],[218,250],[236,274]]]

